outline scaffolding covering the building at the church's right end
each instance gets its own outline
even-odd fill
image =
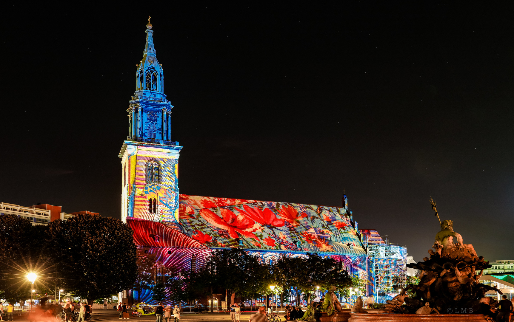
[[[388,236],[381,243],[368,243],[368,255],[373,265],[376,301],[385,301],[407,282],[407,247],[388,242]]]

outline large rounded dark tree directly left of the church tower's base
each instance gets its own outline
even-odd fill
[[[93,302],[131,289],[137,276],[132,229],[119,219],[76,215],[48,225],[48,253],[59,263],[64,288]]]

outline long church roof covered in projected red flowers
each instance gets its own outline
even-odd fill
[[[365,255],[344,207],[180,195],[179,223],[209,248]]]

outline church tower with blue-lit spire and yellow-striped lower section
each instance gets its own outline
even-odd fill
[[[164,72],[157,61],[150,18],[143,59],[136,68],[136,91],[128,101],[128,137],[122,165],[121,219],[178,223],[178,156],[171,141],[171,105],[164,94]]]

